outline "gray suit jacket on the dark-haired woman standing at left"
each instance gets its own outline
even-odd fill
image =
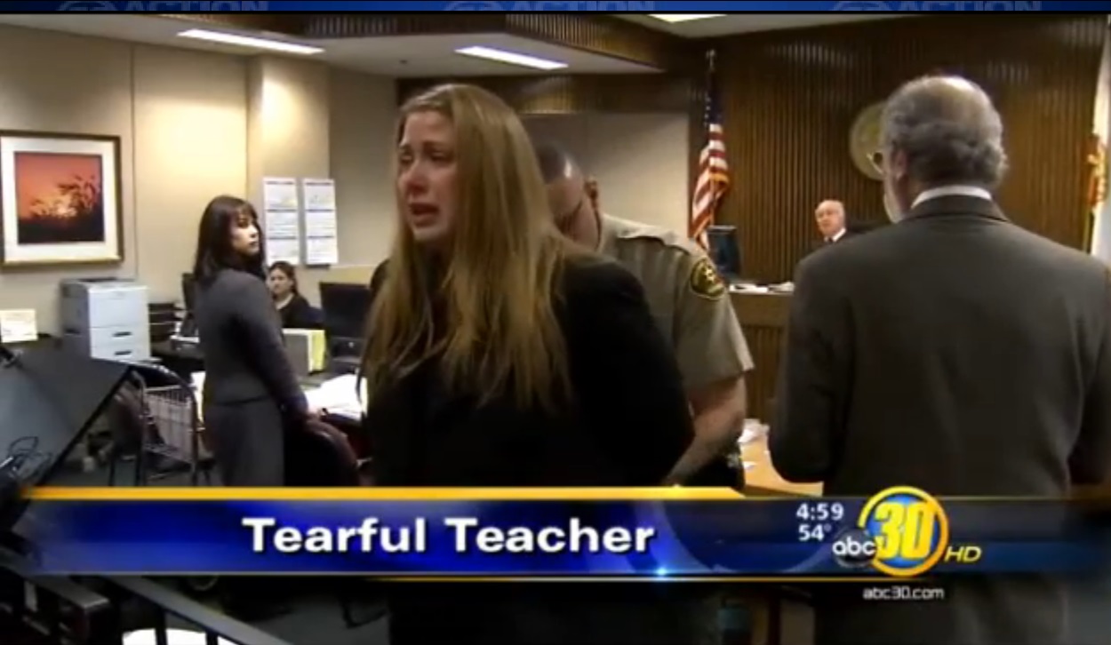
[[[270,399],[303,414],[304,394],[286,355],[278,312],[257,276],[226,269],[197,293],[206,404]]]

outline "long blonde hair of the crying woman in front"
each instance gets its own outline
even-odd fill
[[[439,356],[451,392],[558,407],[570,386],[557,289],[564,259],[577,251],[554,228],[529,135],[498,97],[448,84],[401,108],[398,142],[407,119],[421,112],[442,114],[456,130],[452,239],[443,270],[434,272],[427,250],[399,225],[368,316],[368,393],[373,400]]]

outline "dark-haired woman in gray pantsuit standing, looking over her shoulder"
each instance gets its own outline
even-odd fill
[[[204,429],[226,486],[283,485],[283,435],[309,415],[263,262],[254,208],[233,196],[212,200],[201,216],[193,278]],[[243,582],[226,587],[229,613],[252,618],[274,608],[256,593],[261,585],[248,588]]]

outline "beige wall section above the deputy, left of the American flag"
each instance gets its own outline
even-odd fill
[[[529,117],[526,127],[537,139],[561,143],[598,179],[605,212],[687,233],[684,114]]]

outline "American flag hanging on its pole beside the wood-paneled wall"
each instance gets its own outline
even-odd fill
[[[729,162],[725,161],[725,130],[721,123],[721,108],[718,104],[718,88],[713,69],[714,53],[707,54],[709,71],[705,87],[705,114],[703,135],[705,141],[699,152],[698,180],[691,198],[691,219],[688,234],[703,248],[707,246],[705,230],[713,224],[718,204],[729,190]]]

